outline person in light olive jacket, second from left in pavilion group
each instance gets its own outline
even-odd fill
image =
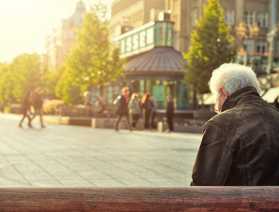
[[[141,114],[140,110],[140,99],[139,99],[139,94],[138,93],[133,93],[131,96],[131,100],[129,101],[129,114],[132,119],[132,130],[136,129],[138,119]]]

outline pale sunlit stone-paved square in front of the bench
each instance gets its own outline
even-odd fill
[[[46,124],[0,113],[0,186],[185,187],[201,134]]]

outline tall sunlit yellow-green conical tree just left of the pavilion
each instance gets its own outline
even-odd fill
[[[99,2],[84,14],[77,44],[66,58],[71,83],[81,88],[81,94],[93,86],[102,86],[116,80],[122,71],[123,61],[118,50],[110,51],[106,6]]]

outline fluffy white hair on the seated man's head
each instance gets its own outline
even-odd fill
[[[220,88],[224,88],[230,96],[247,86],[253,86],[261,93],[260,82],[252,67],[237,63],[224,63],[215,69],[208,86],[214,96],[217,96]]]

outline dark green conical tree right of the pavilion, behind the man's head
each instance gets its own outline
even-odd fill
[[[204,15],[196,21],[196,30],[191,33],[191,46],[182,53],[187,60],[184,79],[196,94],[209,92],[208,81],[212,71],[225,62],[231,62],[236,55],[234,38],[230,35],[230,25],[226,25],[223,9],[218,0],[209,0],[204,5]]]

